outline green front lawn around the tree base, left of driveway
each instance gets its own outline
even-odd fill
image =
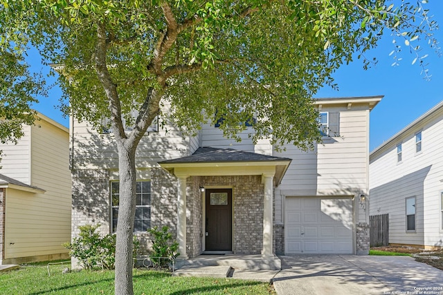
[[[0,294],[113,294],[114,271],[62,274],[62,265],[23,265],[0,273]],[[134,294],[275,294],[269,283],[232,278],[174,277],[167,272],[134,269]]]

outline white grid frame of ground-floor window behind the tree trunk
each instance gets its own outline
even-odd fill
[[[141,184],[142,182],[150,182],[150,185],[149,185],[150,189],[149,189],[149,191],[143,191],[143,184]],[[109,229],[111,230],[111,233],[115,233],[116,230],[117,230],[117,227],[114,226],[114,210],[118,209],[118,205],[114,205],[113,197],[114,196],[118,196],[119,193],[118,192],[114,193],[112,191],[112,185],[114,183],[119,183],[119,181],[118,180],[111,181],[110,184],[109,184],[109,193],[111,195],[111,216],[110,216],[110,223],[109,223],[110,226],[109,226]],[[141,184],[141,191],[140,192],[136,192],[136,199],[140,198],[140,200],[142,202],[143,195],[145,195],[145,196],[148,197],[149,204],[136,204],[136,211],[137,211],[137,209],[142,209],[142,218],[141,219],[140,218],[137,219],[137,213],[136,213],[136,220],[134,221],[134,233],[136,233],[136,232],[143,232],[143,231],[146,231],[147,229],[150,229],[151,228],[151,222],[152,222],[152,187],[151,187],[152,184],[151,184],[150,180],[137,180],[137,185],[139,183]],[[119,198],[119,196],[118,196],[118,198]],[[143,209],[149,209],[149,212],[150,212],[149,218],[143,219]],[[145,229],[143,227],[141,229],[137,229],[137,227],[136,227],[136,221],[137,220],[149,220],[149,226],[147,226]],[[143,221],[142,221],[142,224],[143,224]]]

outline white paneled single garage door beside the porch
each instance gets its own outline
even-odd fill
[[[352,254],[351,198],[287,197],[286,254]]]

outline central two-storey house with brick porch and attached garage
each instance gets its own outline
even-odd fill
[[[316,99],[323,144],[277,152],[267,140],[227,140],[217,124],[195,137],[151,127],[136,151],[135,231],[168,225],[179,258],[228,252],[368,254],[369,115],[377,97]],[[165,112],[167,113],[167,112]],[[72,120],[73,237],[115,231],[118,161],[113,135]]]

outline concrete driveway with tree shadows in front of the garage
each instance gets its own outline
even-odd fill
[[[280,256],[278,295],[443,294],[443,271],[409,256]]]

